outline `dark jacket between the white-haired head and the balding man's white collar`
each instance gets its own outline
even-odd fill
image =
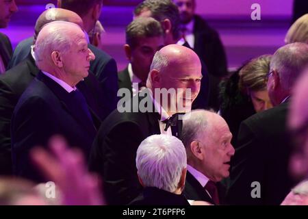
[[[214,201],[212,201],[211,197],[205,191],[205,188],[194,178],[194,176],[187,171],[186,173],[186,181],[185,181],[185,189],[183,191],[183,195],[185,198],[194,201],[207,201],[214,205]]]

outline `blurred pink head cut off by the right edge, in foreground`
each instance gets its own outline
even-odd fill
[[[291,100],[289,127],[296,141],[291,159],[291,170],[294,177],[308,177],[308,69],[294,86]]]

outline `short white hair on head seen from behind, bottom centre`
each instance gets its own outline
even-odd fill
[[[145,187],[175,192],[187,166],[183,143],[174,136],[149,136],[138,147],[136,166]]]

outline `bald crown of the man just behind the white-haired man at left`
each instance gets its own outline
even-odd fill
[[[79,25],[81,29],[84,29],[84,23],[82,22],[81,17],[75,12],[62,8],[51,8],[42,12],[42,14],[40,14],[38,17],[38,20],[36,21],[36,27],[34,29],[34,40],[36,40],[42,27],[53,21],[67,21],[75,23]]]

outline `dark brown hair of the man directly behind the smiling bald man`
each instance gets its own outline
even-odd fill
[[[164,36],[162,26],[154,18],[136,18],[126,28],[126,43],[134,48],[138,38]]]

